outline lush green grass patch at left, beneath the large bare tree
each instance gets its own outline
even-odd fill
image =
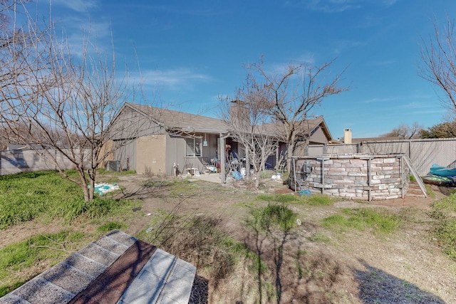
[[[57,172],[0,177],[0,229],[38,218],[63,219],[66,223],[81,215],[96,219],[115,211],[120,204],[110,197],[84,201],[81,188]]]

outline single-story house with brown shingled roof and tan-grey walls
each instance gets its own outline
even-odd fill
[[[322,116],[306,123],[310,143],[327,144],[331,140]],[[119,145],[110,161],[119,162],[120,169],[135,169],[140,174],[186,173],[189,168],[202,170],[205,162],[217,162],[221,157],[244,156],[242,147],[229,136],[227,124],[217,118],[125,103],[111,125],[117,125],[113,130],[118,130],[113,132],[111,145],[130,140]],[[275,166],[284,148],[279,146],[270,167]]]

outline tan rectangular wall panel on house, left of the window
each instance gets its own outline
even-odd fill
[[[166,135],[140,137],[136,140],[136,172],[166,174]]]

